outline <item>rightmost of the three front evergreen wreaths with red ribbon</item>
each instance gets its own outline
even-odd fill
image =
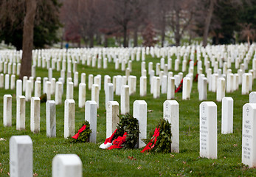
[[[161,118],[158,125],[156,125],[156,128],[159,128],[159,136],[156,138],[156,144],[150,149],[151,152],[159,152],[159,153],[170,153],[171,152],[171,125],[170,123]],[[153,136],[154,131],[150,133],[151,137]],[[151,142],[152,139],[143,139],[143,141],[148,145],[149,142]]]

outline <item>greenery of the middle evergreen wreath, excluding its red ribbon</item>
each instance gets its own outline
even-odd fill
[[[113,139],[118,136],[123,136],[127,133],[126,141],[122,144],[123,148],[133,149],[139,140],[139,122],[138,119],[131,116],[131,114],[124,114],[118,116],[120,122],[117,124],[117,132]]]

